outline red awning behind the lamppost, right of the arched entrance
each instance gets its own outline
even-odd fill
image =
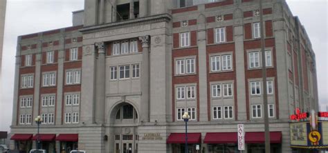
[[[167,143],[185,143],[185,133],[172,133]],[[188,143],[201,143],[201,133],[188,133]]]

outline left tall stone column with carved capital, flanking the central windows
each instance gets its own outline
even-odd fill
[[[104,123],[104,90],[105,90],[105,52],[104,42],[95,43],[98,59],[95,69],[95,122]]]

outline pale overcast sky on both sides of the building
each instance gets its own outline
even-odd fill
[[[1,1],[1,0],[0,0]],[[319,101],[328,105],[327,1],[287,0],[291,12],[300,18],[316,53]],[[0,131],[9,131],[17,36],[72,25],[71,12],[82,10],[84,0],[7,0],[6,28],[0,96]],[[324,107],[322,107],[324,108]]]

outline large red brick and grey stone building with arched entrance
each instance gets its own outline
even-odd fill
[[[184,152],[188,111],[192,152],[237,151],[238,123],[246,152],[262,152],[268,107],[272,152],[292,152],[289,115],[318,111],[298,17],[263,1],[264,106],[257,1],[201,2],[86,0],[83,26],[19,37],[10,147],[35,147],[40,115],[48,152]]]

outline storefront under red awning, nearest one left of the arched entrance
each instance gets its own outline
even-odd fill
[[[78,150],[78,134],[59,134],[56,141],[60,141],[60,153],[69,153],[71,150]]]

